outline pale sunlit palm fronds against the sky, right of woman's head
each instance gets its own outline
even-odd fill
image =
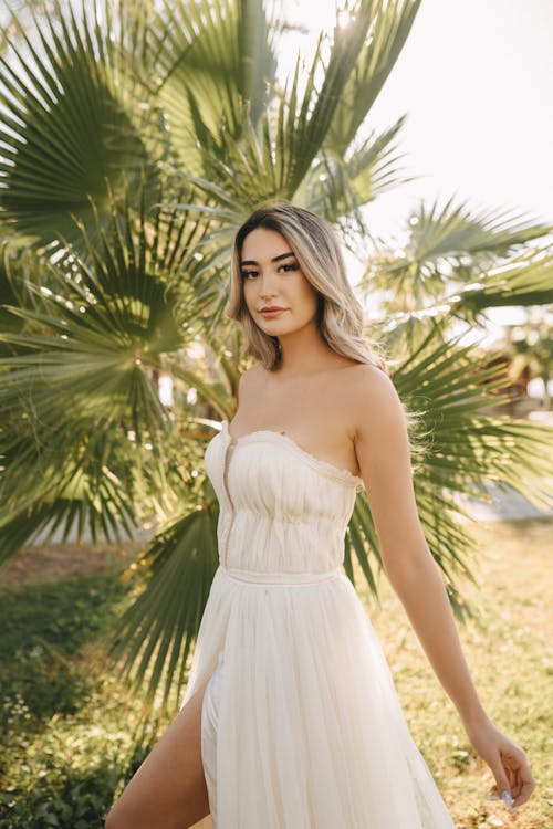
[[[553,302],[549,224],[449,199],[421,204],[407,230],[400,251],[383,245],[371,259],[363,283],[367,292],[395,286],[384,303],[392,326],[450,315],[472,322],[488,307]]]

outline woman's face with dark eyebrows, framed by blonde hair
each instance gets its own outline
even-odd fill
[[[265,334],[280,337],[305,325],[316,325],[316,291],[279,232],[257,228],[248,233],[242,243],[240,272],[248,311]]]

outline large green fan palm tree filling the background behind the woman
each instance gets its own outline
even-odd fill
[[[9,22],[0,559],[39,531],[113,539],[156,522],[114,652],[166,703],[186,680],[217,567],[218,507],[201,458],[216,421],[232,416],[244,368],[240,333],[222,316],[233,232],[254,207],[288,199],[324,214],[349,245],[366,233],[363,206],[405,178],[403,119],[379,134],[364,125],[419,4],[358,0],[283,84],[284,22],[261,0],[83,0],[79,10],[51,0],[50,15],[29,2]],[[406,256],[375,255],[367,274],[410,292],[380,334],[399,393],[420,411],[420,516],[462,612],[456,578],[470,576],[471,541],[456,494],[483,496],[491,479],[539,500],[547,433],[482,413],[504,380],[450,336],[449,314],[468,318],[512,296],[545,302],[551,256],[529,245],[549,229],[462,211],[422,219]],[[428,303],[442,260],[458,262],[448,313]],[[427,269],[432,291],[419,290]],[[159,400],[161,374],[171,406]],[[346,538],[352,579],[354,558],[376,591],[378,543],[361,494]]]

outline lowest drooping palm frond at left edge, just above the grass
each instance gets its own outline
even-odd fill
[[[38,434],[29,420],[0,430],[0,567],[39,533],[43,542],[132,537],[140,486],[128,440],[94,423],[86,436],[82,423],[79,436],[63,424]]]

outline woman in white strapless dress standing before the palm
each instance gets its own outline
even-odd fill
[[[331,228],[279,204],[238,231],[229,315],[257,363],[206,450],[220,565],[184,706],[108,829],[447,829],[382,649],[342,573],[364,485],[386,574],[508,808],[534,783],[489,720],[414,497],[407,417],[362,336]]]

